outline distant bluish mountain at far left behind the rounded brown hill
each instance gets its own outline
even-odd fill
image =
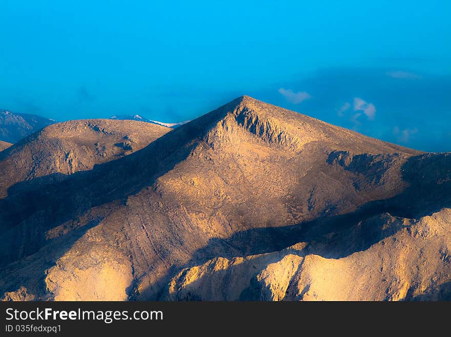
[[[0,109],[0,141],[16,143],[53,123],[56,121],[41,116]]]

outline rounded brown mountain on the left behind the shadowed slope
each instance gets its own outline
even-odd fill
[[[171,129],[135,121],[82,120],[57,123],[0,154],[0,196],[19,182],[60,181],[78,171],[149,145]],[[43,178],[44,179],[44,178]],[[20,189],[20,187],[18,187]]]

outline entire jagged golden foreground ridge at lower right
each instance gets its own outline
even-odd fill
[[[329,237],[268,254],[219,257],[180,271],[166,296],[204,301],[449,300],[451,209],[418,221],[385,214],[357,226],[377,224],[383,224],[378,231],[393,234],[368,249],[353,247],[351,254],[326,258],[331,249],[343,249],[341,240],[337,245]],[[357,226],[339,235],[361,240],[366,230]]]

